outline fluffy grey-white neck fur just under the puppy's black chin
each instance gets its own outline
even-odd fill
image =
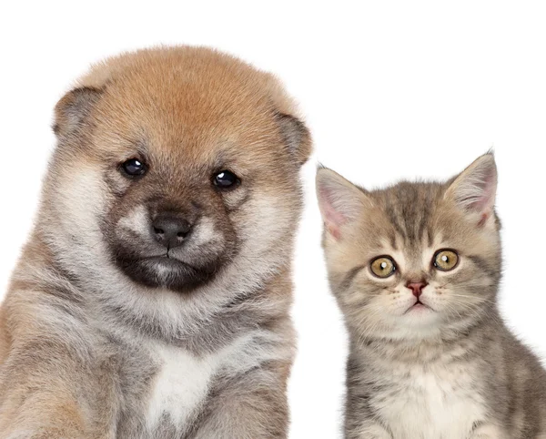
[[[288,320],[291,303],[289,271],[279,271],[253,290],[231,296],[225,291],[142,291],[120,307],[102,301],[105,324],[114,332],[166,342],[191,352],[214,352],[239,334]],[[216,297],[215,297],[216,293]]]

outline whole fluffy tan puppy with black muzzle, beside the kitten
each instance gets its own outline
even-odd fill
[[[0,438],[285,437],[308,129],[198,47],[94,66],[0,311]]]

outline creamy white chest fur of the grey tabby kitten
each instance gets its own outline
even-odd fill
[[[486,412],[473,369],[468,363],[393,366],[372,404],[395,438],[467,438]]]

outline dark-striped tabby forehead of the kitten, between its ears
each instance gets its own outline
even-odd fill
[[[422,250],[431,246],[438,230],[437,209],[445,185],[440,183],[400,182],[387,189],[370,192],[389,222],[389,244],[397,250]]]

